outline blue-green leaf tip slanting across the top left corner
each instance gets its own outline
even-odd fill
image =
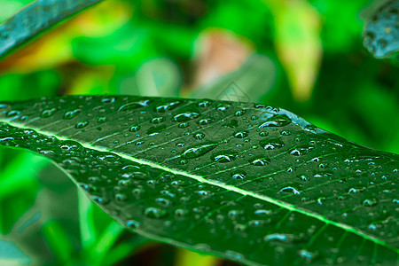
[[[101,0],[37,0],[0,25],[0,57],[60,20]]]

